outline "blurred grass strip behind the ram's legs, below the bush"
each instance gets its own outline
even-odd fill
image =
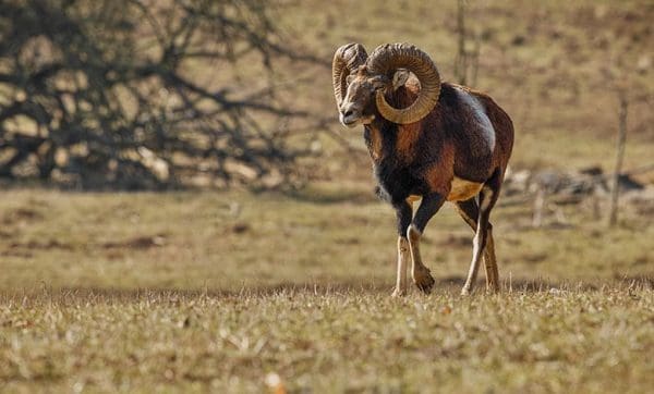
[[[395,214],[373,193],[314,186],[296,196],[245,192],[2,193],[0,288],[157,287],[234,290],[280,283],[390,286]],[[532,229],[529,206],[494,211],[505,279],[605,280],[652,273],[647,216],[625,207],[605,231],[591,208],[567,226]],[[425,233],[437,278],[460,281],[470,229],[446,206]]]

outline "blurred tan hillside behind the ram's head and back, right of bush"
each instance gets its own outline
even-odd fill
[[[283,7],[279,17],[289,38],[327,62],[346,42],[358,41],[372,51],[384,42],[409,41],[432,54],[444,79],[453,81],[457,4],[433,3],[302,1]],[[480,37],[473,85],[512,116],[514,168],[609,170],[618,124],[616,86],[627,86],[630,99],[625,167],[652,161],[653,19],[651,1],[468,2],[468,50]],[[367,176],[361,133],[338,124],[329,69],[291,64],[278,73],[281,81],[308,81],[290,89],[293,106],[334,119],[327,135],[337,136],[324,136],[323,143],[327,158],[336,156],[318,167],[330,169],[331,176]],[[343,149],[343,138],[355,150]],[[343,153],[353,152],[361,152],[358,160],[343,160]]]

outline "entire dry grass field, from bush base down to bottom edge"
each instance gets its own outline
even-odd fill
[[[646,218],[531,229],[528,209],[500,206],[502,294],[462,298],[471,233],[446,208],[423,247],[434,294],[391,299],[393,218],[371,195],[1,192],[0,391],[654,383]]]

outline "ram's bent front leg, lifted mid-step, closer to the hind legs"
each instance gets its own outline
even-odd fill
[[[434,278],[429,269],[425,267],[420,255],[420,238],[427,225],[427,222],[443,207],[445,198],[438,193],[432,193],[423,196],[422,202],[415,212],[415,218],[407,231],[409,247],[411,249],[411,276],[413,283],[424,293],[431,293],[434,286]]]

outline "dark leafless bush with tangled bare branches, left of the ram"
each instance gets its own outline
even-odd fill
[[[288,110],[268,76],[276,59],[312,59],[280,45],[270,7],[0,2],[0,176],[84,188],[291,176],[302,151],[287,120],[306,113]]]

